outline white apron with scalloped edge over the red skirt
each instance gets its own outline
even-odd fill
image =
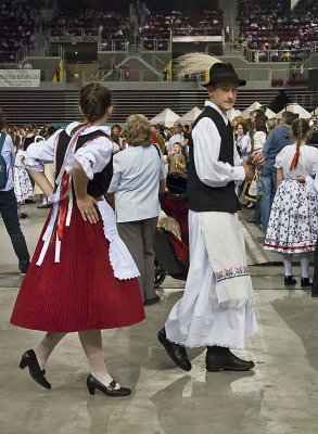
[[[99,201],[98,207],[103,220],[104,235],[110,242],[110,263],[115,278],[119,280],[138,278],[140,272],[126,244],[119,238],[113,208],[106,201]]]

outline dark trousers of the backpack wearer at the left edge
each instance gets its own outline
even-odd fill
[[[0,214],[18,258],[18,269],[26,272],[29,265],[29,253],[18,222],[14,189],[0,191]]]

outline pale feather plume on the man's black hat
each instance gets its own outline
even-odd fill
[[[215,63],[222,63],[214,55],[205,53],[183,54],[180,55],[176,62],[180,67],[178,72],[179,76],[205,73],[206,71],[209,71],[211,66],[213,66]]]

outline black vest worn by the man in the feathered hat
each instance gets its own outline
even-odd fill
[[[221,138],[219,150],[219,162],[234,165],[234,143],[231,124],[225,124],[221,115],[213,107],[205,106],[201,115],[195,119],[193,127],[203,117],[209,117],[216,125]],[[192,128],[193,128],[192,127]],[[213,143],[206,143],[207,146],[213,146]],[[229,182],[225,187],[209,187],[203,183],[198,177],[194,158],[193,158],[193,140],[192,135],[189,140],[189,177],[188,177],[188,200],[189,208],[195,212],[222,212],[237,213],[240,207],[238,196],[236,194],[234,182]]]

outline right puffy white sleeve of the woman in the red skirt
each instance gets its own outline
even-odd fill
[[[73,174],[73,166],[78,162],[89,179],[93,178],[94,174],[102,171],[110,163],[113,152],[113,143],[104,136],[87,142],[72,154],[66,163],[65,170],[68,175]]]

